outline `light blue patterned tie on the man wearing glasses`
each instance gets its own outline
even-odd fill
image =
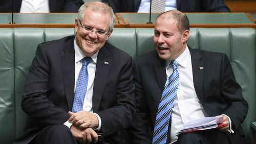
[[[78,79],[76,81],[75,98],[73,102],[72,112],[81,111],[83,107],[84,96],[86,95],[87,83],[88,83],[88,70],[87,66],[91,63],[90,57],[82,59],[82,68],[79,72]]]

